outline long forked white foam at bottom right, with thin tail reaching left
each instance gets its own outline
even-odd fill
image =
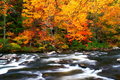
[[[59,69],[53,69],[53,70],[47,70],[47,71],[42,71],[42,73],[56,73],[56,72],[70,72],[74,70],[81,70],[83,71],[82,73],[75,74],[75,75],[70,75],[70,76],[63,76],[61,78],[57,78],[57,80],[80,80],[80,79],[86,79],[86,78],[100,78],[102,80],[114,80],[111,78],[99,76],[98,73],[102,72],[102,69],[99,70],[94,70],[90,68],[82,68],[79,67],[78,65],[76,66],[70,66],[70,65],[64,65],[65,68],[59,68]]]

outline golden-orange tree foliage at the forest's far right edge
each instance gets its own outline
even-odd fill
[[[108,6],[104,10],[104,15],[99,18],[99,25],[102,28],[104,34],[116,34],[120,24],[120,8],[116,5]],[[103,23],[107,24],[104,25]],[[110,26],[110,27],[109,27]]]

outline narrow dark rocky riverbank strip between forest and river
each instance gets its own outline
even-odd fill
[[[53,50],[37,50],[37,49],[31,49],[31,50],[5,50],[2,49],[0,50],[0,53],[47,53],[47,54],[53,54],[53,53],[64,53],[64,54],[70,54],[70,53],[74,53],[74,52],[83,52],[85,54],[89,54],[87,52],[90,51],[103,51],[103,52],[108,52],[108,51],[112,51],[112,50],[120,50],[119,47],[113,47],[113,48],[94,48],[94,49],[90,49],[90,50],[85,50],[85,49],[81,49],[81,50],[70,50],[70,49],[53,49]]]

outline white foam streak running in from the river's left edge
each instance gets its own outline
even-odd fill
[[[34,57],[35,56],[22,54],[21,58],[18,61],[14,59],[6,65],[0,65],[0,75],[7,73],[11,69],[21,69],[21,68],[27,67],[26,65],[21,65],[21,64],[26,61],[28,63],[31,61],[34,61],[35,60]]]

